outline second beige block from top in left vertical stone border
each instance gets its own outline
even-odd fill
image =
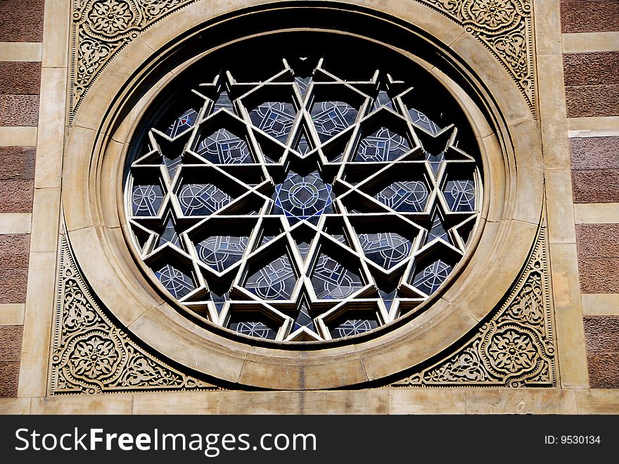
[[[60,187],[65,140],[67,70],[42,68],[34,187]]]

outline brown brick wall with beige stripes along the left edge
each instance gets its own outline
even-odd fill
[[[19,380],[43,12],[44,0],[0,0],[0,397],[4,398],[17,396]]]

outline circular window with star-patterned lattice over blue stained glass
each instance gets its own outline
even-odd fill
[[[169,296],[276,341],[423,311],[482,203],[445,87],[395,50],[319,32],[223,47],[182,76],[136,130],[125,181],[136,253]]]

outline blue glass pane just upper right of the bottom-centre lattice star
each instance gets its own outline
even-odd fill
[[[363,282],[355,272],[321,254],[312,272],[312,285],[319,299],[343,299],[363,287]]]

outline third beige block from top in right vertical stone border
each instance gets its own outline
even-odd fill
[[[548,237],[551,243],[575,243],[572,174],[568,169],[546,171]]]

